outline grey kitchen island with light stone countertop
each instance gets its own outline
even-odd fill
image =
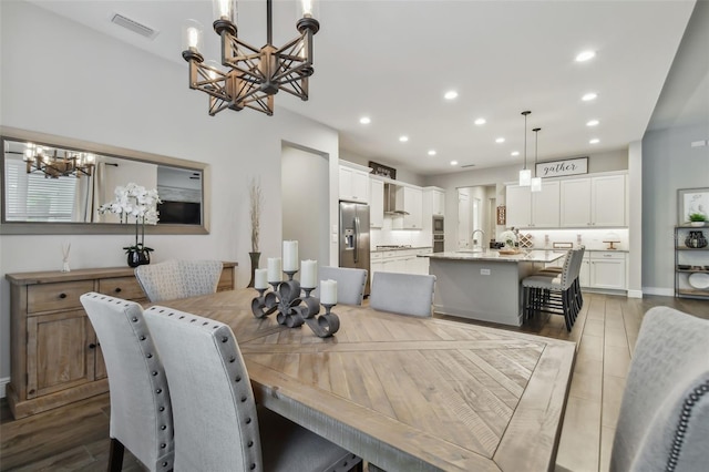
[[[530,250],[504,255],[491,249],[427,256],[430,258],[429,271],[435,276],[435,312],[521,326],[522,279],[564,254]]]

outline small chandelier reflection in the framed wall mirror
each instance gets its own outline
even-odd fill
[[[61,155],[63,154],[63,155]],[[27,173],[44,173],[44,178],[59,178],[74,175],[76,178],[85,175],[91,176],[94,166],[94,156],[90,153],[75,151],[47,150],[42,146],[29,144],[24,150],[24,162]]]

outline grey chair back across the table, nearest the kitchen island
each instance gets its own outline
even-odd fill
[[[376,273],[369,306],[400,315],[431,317],[434,275]]]

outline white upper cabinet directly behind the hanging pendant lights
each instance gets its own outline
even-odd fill
[[[559,226],[559,183],[542,182],[541,192],[508,185],[506,188],[507,227],[557,228]]]

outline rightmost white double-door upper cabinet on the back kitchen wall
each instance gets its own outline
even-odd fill
[[[561,181],[561,226],[626,226],[625,179],[618,174]]]

